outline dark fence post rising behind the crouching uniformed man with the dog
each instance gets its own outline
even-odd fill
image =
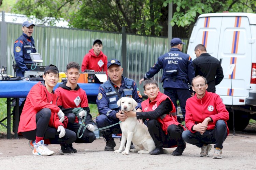
[[[127,77],[128,76],[128,71],[127,71],[127,47],[126,47],[126,32],[125,32],[125,27],[122,27],[122,67],[124,68],[123,71],[123,76]]]

